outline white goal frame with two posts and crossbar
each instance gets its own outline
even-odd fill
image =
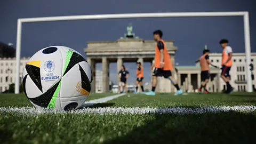
[[[16,43],[16,74],[15,94],[19,93],[20,86],[20,51],[21,51],[21,29],[25,22],[43,21],[67,21],[67,20],[89,20],[89,19],[127,19],[127,18],[170,18],[170,17],[232,17],[243,16],[244,18],[244,41],[246,54],[247,92],[252,92],[252,78],[250,71],[251,44],[249,12],[174,12],[174,13],[125,13],[125,14],[95,14],[95,15],[70,15],[60,17],[22,18],[17,23]]]

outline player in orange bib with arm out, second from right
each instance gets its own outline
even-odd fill
[[[204,93],[209,93],[206,89],[206,84],[209,82],[210,78],[210,67],[209,65],[212,65],[212,63],[209,60],[209,54],[210,50],[204,50],[203,55],[199,58],[200,66],[201,66],[201,87],[198,88],[200,92],[202,92],[202,89],[204,88]],[[217,66],[212,65],[215,68],[218,68]]]

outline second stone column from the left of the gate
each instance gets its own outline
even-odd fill
[[[109,91],[109,61],[102,58],[102,93]]]

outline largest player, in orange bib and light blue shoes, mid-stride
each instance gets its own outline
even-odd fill
[[[172,77],[171,70],[172,62],[170,58],[170,54],[167,51],[164,40],[162,39],[163,32],[161,30],[154,31],[154,40],[157,42],[155,47],[155,65],[151,66],[151,68],[155,67],[152,81],[152,90],[146,92],[147,95],[155,95],[155,89],[157,85],[157,77],[162,77],[170,79],[172,84],[176,87],[177,92],[175,95],[181,95],[183,92],[180,90],[177,81]]]

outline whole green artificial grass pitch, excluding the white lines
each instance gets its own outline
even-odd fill
[[[113,94],[91,94],[89,98],[109,95]],[[256,93],[126,94],[90,109],[216,106],[255,107]],[[0,94],[0,107],[34,109],[23,94]],[[0,133],[0,143],[255,143],[256,111],[229,110],[202,114],[35,114],[0,111]]]

